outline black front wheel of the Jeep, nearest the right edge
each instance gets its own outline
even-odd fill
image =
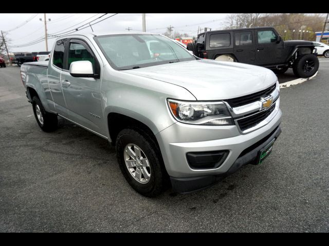
[[[314,54],[298,57],[293,66],[294,74],[300,78],[312,77],[319,69],[319,59]]]

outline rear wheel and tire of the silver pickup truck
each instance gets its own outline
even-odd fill
[[[32,107],[36,122],[44,132],[52,132],[57,129],[58,119],[56,114],[46,112],[38,96],[32,99]],[[40,117],[40,115],[42,117]]]

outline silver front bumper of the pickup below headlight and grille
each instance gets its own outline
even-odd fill
[[[216,181],[217,177],[232,173],[233,167],[240,168],[246,164],[246,157],[241,158],[241,154],[245,153],[246,149],[268,137],[269,134],[272,135],[274,131],[277,131],[277,136],[280,134],[278,132],[281,132],[279,125],[282,112],[279,105],[278,101],[266,125],[247,134],[242,134],[236,126],[191,126],[180,122],[156,134],[174,190],[185,193],[202,189]],[[222,150],[228,150],[229,153],[224,162],[213,169],[192,169],[186,156],[190,152]],[[241,165],[242,160],[243,165]],[[184,185],[184,183],[194,183],[194,185]]]

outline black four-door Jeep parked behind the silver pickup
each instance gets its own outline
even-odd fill
[[[277,74],[293,68],[302,78],[313,76],[319,68],[312,42],[283,41],[272,27],[204,32],[187,49],[200,58],[258,65]]]

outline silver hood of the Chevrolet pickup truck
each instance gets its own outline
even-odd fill
[[[206,59],[122,72],[184,87],[197,100],[221,100],[249,95],[277,81],[277,76],[263,67]]]

